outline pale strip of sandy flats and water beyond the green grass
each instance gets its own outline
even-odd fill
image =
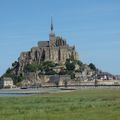
[[[60,93],[60,92],[71,92],[73,90],[80,89],[120,89],[120,86],[90,86],[90,87],[68,87],[68,88],[57,88],[57,87],[46,87],[46,88],[11,88],[11,89],[0,89],[0,96],[28,96],[34,94],[49,94],[49,93]]]

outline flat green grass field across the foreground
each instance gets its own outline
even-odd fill
[[[0,120],[120,120],[120,89],[0,97]]]

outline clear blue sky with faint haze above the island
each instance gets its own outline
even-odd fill
[[[120,0],[0,0],[0,76],[54,32],[83,63],[120,74]]]

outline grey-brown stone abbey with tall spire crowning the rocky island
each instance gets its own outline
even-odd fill
[[[74,46],[69,46],[66,40],[56,36],[53,31],[53,23],[51,20],[51,32],[48,41],[39,41],[37,47],[31,48],[28,52],[22,52],[18,58],[19,72],[22,72],[26,64],[40,64],[44,61],[53,61],[55,63],[64,64],[66,59],[70,57],[78,60],[78,54]]]

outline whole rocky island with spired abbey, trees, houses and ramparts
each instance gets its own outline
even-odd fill
[[[37,47],[20,53],[18,60],[1,77],[1,88],[12,86],[9,84],[12,80],[16,86],[29,87],[120,84],[119,81],[99,81],[110,79],[116,78],[102,72],[93,63],[84,64],[75,46],[70,46],[66,39],[55,35],[51,19],[48,40],[39,41]],[[6,86],[2,81],[6,81]]]

